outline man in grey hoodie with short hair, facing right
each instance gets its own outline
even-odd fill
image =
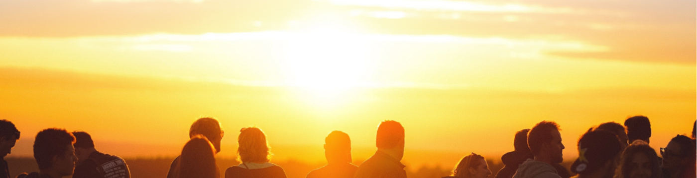
[[[523,162],[514,178],[560,178],[554,164],[564,161],[562,158],[562,137],[556,122],[542,121],[535,124],[528,132],[528,147],[535,155],[534,159]]]

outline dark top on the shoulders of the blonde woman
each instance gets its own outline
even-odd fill
[[[225,178],[286,178],[286,172],[278,165],[261,169],[232,166],[225,170]]]

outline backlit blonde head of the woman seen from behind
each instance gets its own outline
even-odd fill
[[[271,152],[266,142],[266,134],[256,127],[245,127],[237,138],[239,147],[237,158],[243,163],[264,163],[271,159]]]

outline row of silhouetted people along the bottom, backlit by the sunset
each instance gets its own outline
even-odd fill
[[[562,163],[562,136],[556,122],[542,121],[530,129],[516,132],[514,151],[501,157],[505,164],[496,178],[694,178],[696,177],[695,127],[691,137],[677,135],[659,154],[648,143],[651,124],[645,116],[634,116],[624,125],[606,122],[588,129],[579,138],[578,156],[570,168]],[[257,127],[245,127],[238,136],[239,165],[220,172],[215,154],[220,152],[224,131],[215,118],[200,118],[189,130],[190,140],[172,161],[167,178],[285,178],[279,165],[270,163],[266,134]],[[8,163],[20,131],[8,120],[0,120],[0,178],[10,177]],[[378,125],[377,151],[360,165],[351,159],[351,138],[332,131],[325,138],[327,165],[312,170],[307,178],[406,178],[404,127],[385,120]],[[33,156],[39,172],[22,173],[17,178],[128,178],[128,164],[118,156],[95,149],[89,133],[65,129],[44,129],[36,134]],[[569,170],[571,172],[569,172]],[[487,178],[492,175],[484,156],[474,152],[464,156],[449,177]]]

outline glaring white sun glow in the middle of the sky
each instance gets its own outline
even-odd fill
[[[343,29],[314,26],[308,33],[289,38],[284,47],[286,82],[332,100],[365,83],[370,68],[368,42]]]

